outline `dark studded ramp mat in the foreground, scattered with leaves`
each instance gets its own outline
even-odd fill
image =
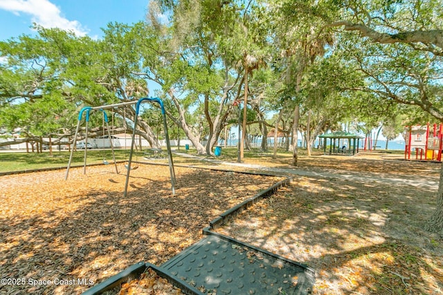
[[[210,294],[309,294],[315,274],[306,265],[206,231],[161,269]]]

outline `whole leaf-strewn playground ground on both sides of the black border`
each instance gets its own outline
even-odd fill
[[[72,168],[66,181],[64,170],[1,176],[5,274],[96,284],[138,261],[161,265],[197,242],[215,216],[282,180],[210,168],[293,176],[216,230],[306,263],[316,271],[313,294],[442,292],[443,241],[422,229],[435,208],[441,164],[381,153],[300,156],[297,169],[283,157],[237,166],[220,158],[174,155],[175,196],[166,161],[138,164],[126,198],[125,175],[111,165],[87,174]],[[0,292],[77,294],[89,287],[42,282]]]

